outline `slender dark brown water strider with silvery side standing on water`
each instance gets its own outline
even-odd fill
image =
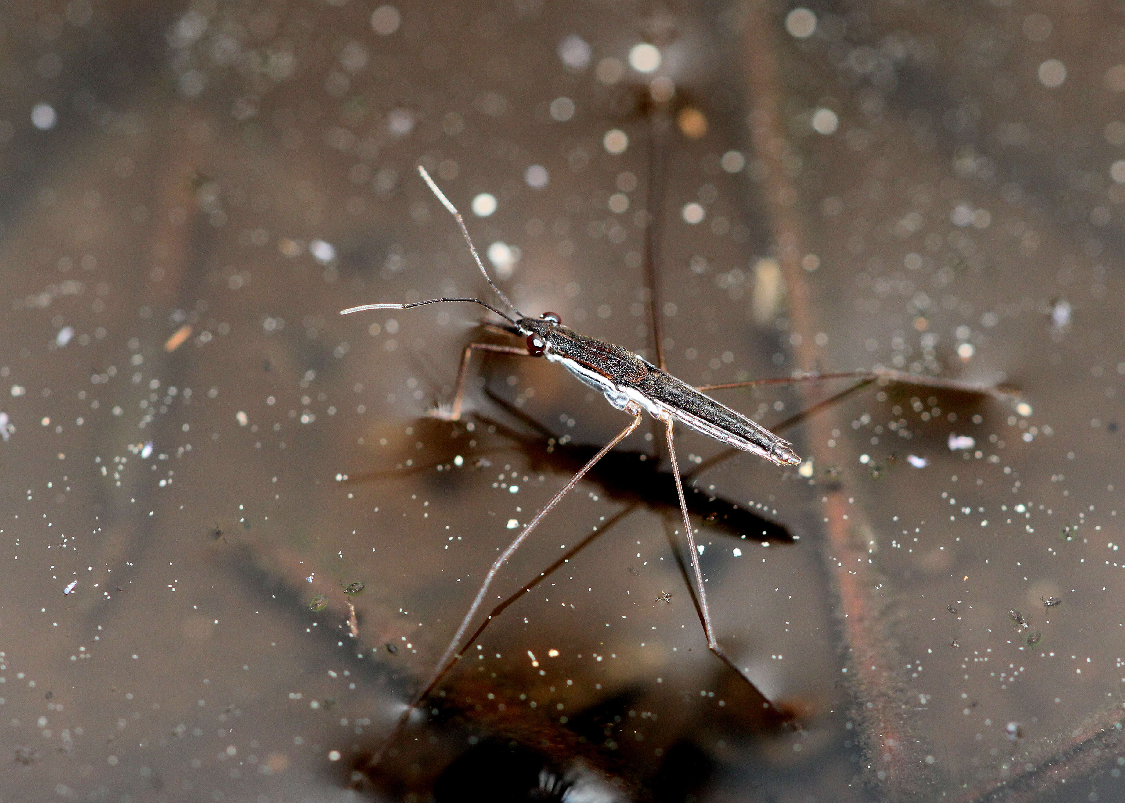
[[[582,478],[606,454],[609,453],[618,443],[623,441],[629,436],[641,423],[641,416],[647,410],[650,416],[664,424],[665,435],[668,444],[668,455],[672,463],[672,476],[675,481],[676,496],[678,500],[680,512],[683,518],[684,532],[687,536],[688,556],[691,558],[692,574],[694,575],[695,597],[698,599],[698,612],[700,615],[701,623],[703,625],[704,634],[706,635],[708,647],[710,650],[718,656],[727,666],[738,673],[742,679],[749,684],[750,687],[757,692],[754,686],[753,680],[746,675],[745,670],[738,667],[722,650],[716,638],[714,628],[711,622],[711,614],[708,606],[706,590],[704,587],[703,572],[700,568],[699,562],[699,549],[695,544],[694,534],[692,532],[691,518],[688,515],[687,504],[684,496],[683,481],[680,476],[678,463],[675,452],[675,441],[674,441],[674,425],[678,422],[680,424],[687,426],[696,432],[708,435],[721,443],[726,443],[737,451],[750,452],[757,454],[758,457],[767,460],[775,466],[796,466],[801,463],[801,458],[796,455],[793,451],[792,443],[783,440],[778,435],[772,433],[770,430],[760,426],[756,422],[752,421],[747,416],[738,413],[726,405],[716,402],[709,396],[702,393],[702,389],[719,389],[719,388],[734,388],[734,387],[748,387],[762,382],[734,382],[722,386],[706,386],[705,388],[694,388],[686,382],[676,379],[667,371],[664,370],[663,357],[658,358],[660,366],[656,366],[648,360],[630,352],[629,350],[608,343],[605,341],[597,340],[595,337],[588,337],[586,335],[578,334],[574,330],[564,326],[561,319],[555,313],[543,313],[539,318],[532,318],[525,316],[521,313],[515,305],[508,300],[507,296],[496,286],[488,271],[485,269],[484,263],[477,254],[476,247],[472,244],[472,240],[469,236],[468,229],[465,226],[465,220],[461,217],[457,208],[446,198],[444,193],[439,189],[434,181],[426,173],[425,169],[421,165],[418,166],[418,172],[425,180],[426,184],[438,197],[438,199],[444,205],[449,213],[454,217],[458,226],[461,228],[461,233],[468,243],[469,251],[476,261],[477,268],[484,274],[485,280],[492,287],[493,291],[501,298],[504,305],[514,313],[515,317],[505,313],[496,307],[485,303],[479,298],[431,298],[423,301],[414,301],[411,304],[393,304],[393,303],[378,303],[378,304],[366,304],[357,307],[350,307],[348,309],[341,310],[341,315],[349,315],[351,313],[371,310],[371,309],[411,309],[414,307],[422,307],[430,304],[443,304],[452,301],[461,301],[476,304],[495,315],[500,316],[504,324],[489,324],[490,326],[507,332],[512,335],[523,337],[524,346],[516,345],[502,345],[493,343],[469,343],[464,351],[460,368],[458,370],[456,390],[453,396],[452,405],[448,408],[441,408],[435,410],[435,415],[441,418],[449,421],[456,421],[460,418],[461,406],[465,394],[465,381],[468,373],[468,366],[474,351],[485,351],[495,352],[502,354],[513,354],[520,357],[542,357],[551,362],[560,363],[565,369],[567,369],[572,375],[574,375],[583,384],[601,391],[605,399],[615,408],[623,410],[632,416],[632,421],[618,433],[609,443],[602,446],[592,458],[590,458],[586,463],[578,469],[577,472],[567,481],[567,484],[559,490],[543,507],[540,509],[536,516],[528,523],[526,526],[516,535],[515,540],[512,541],[501,552],[500,557],[489,568],[484,581],[482,583],[477,594],[469,606],[468,612],[465,614],[460,625],[457,629],[456,634],[450,640],[449,646],[441,656],[441,659],[434,666],[428,682],[422,686],[420,692],[414,696],[411,705],[403,712],[394,729],[390,732],[390,738],[402,728],[406,722],[410,713],[417,706],[417,704],[423,701],[441,682],[446,673],[453,666],[457,659],[464,653],[464,648],[459,651],[458,647],[462,643],[466,633],[480,610],[482,604],[485,601],[485,595],[488,592],[493,580],[496,578],[500,570],[507,563],[515,551],[523,544],[528,536],[534,531],[543,517],[582,480]],[[660,341],[657,339],[657,343]],[[658,354],[662,350],[658,348]],[[904,380],[904,381],[918,381],[919,384],[927,385],[942,385],[943,387],[953,387],[955,389],[971,389],[975,391],[986,390],[984,388],[978,387],[962,387],[957,382],[948,382],[946,380],[935,380],[928,377],[915,377],[914,375],[901,375],[894,372],[894,377],[888,376],[889,379]],[[875,375],[870,371],[855,371],[840,375],[830,375],[832,378],[837,377],[848,377],[858,378],[864,384],[870,384],[882,375]],[[828,378],[828,377],[817,377],[814,375],[807,375],[800,378]],[[795,381],[795,379],[782,379],[782,380],[765,380],[766,382],[777,382],[777,381]],[[496,612],[494,612],[496,613]],[[490,619],[490,616],[489,616]],[[472,635],[472,639],[479,634],[479,632],[487,625],[487,620],[480,625],[478,631]],[[772,709],[772,704],[765,701],[763,697],[763,707]],[[773,710],[776,713],[775,710]],[[389,742],[389,738],[388,738]],[[379,760],[381,756],[381,750],[375,755],[370,764],[375,764]]]

